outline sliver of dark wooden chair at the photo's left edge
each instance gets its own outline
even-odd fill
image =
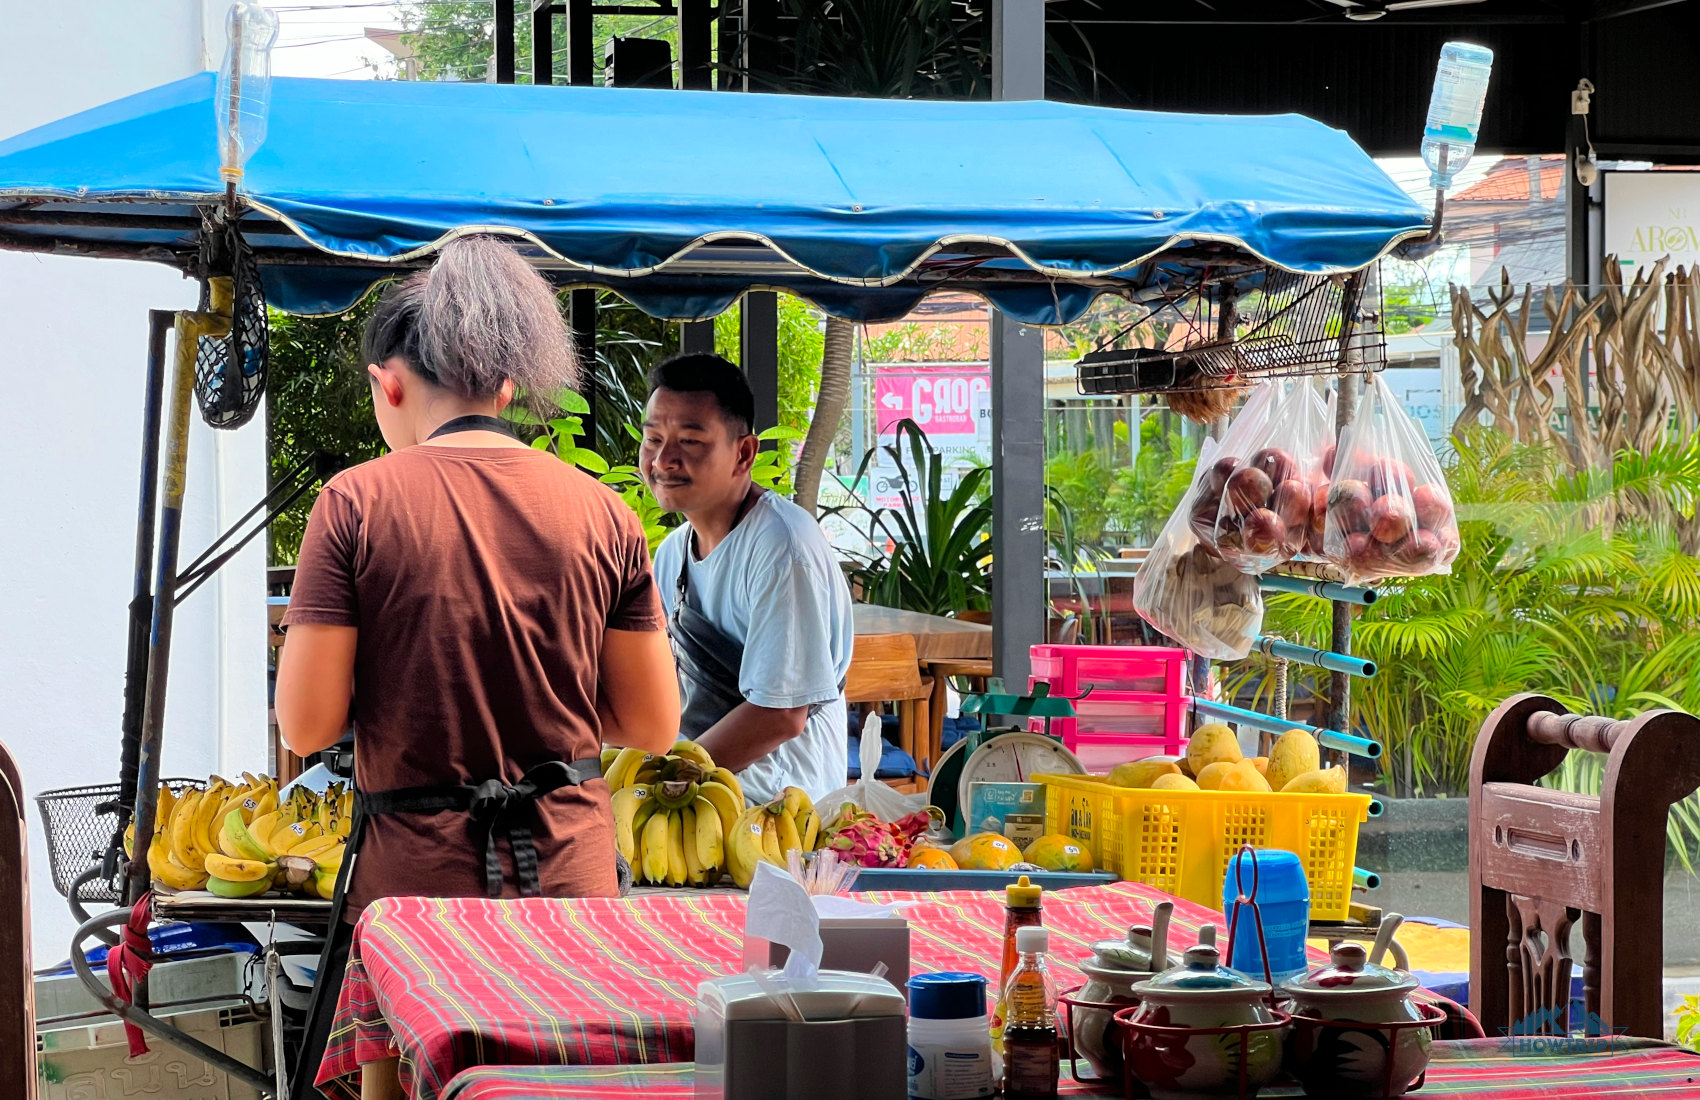
[[[36,1097],[36,984],[29,955],[29,838],[24,780],[0,745],[0,1081]]]

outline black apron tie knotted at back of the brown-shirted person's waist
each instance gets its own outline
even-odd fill
[[[602,760],[590,757],[566,763],[549,760],[525,772],[517,784],[486,779],[478,785],[461,787],[400,787],[396,791],[360,791],[355,801],[366,814],[437,814],[464,813],[471,818],[473,843],[484,850],[484,891],[502,896],[502,860],[496,855],[496,835],[505,833],[513,852],[513,877],[522,898],[542,893],[537,879],[537,847],[532,843],[530,825],[520,816],[542,796],[561,787],[576,787],[602,775]]]

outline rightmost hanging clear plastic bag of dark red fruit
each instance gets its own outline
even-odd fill
[[[1329,473],[1323,544],[1348,583],[1452,571],[1459,556],[1452,491],[1428,435],[1382,376],[1368,377]]]

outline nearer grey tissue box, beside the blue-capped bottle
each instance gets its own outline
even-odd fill
[[[864,921],[858,921],[864,923]],[[774,976],[775,981],[779,976]],[[794,991],[802,1022],[746,974],[697,986],[702,1100],[903,1100],[910,1091],[908,1005],[872,974],[821,971]]]

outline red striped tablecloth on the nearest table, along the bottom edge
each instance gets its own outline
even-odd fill
[[[692,1066],[484,1066],[449,1083],[444,1100],[687,1100]],[[1066,1097],[1117,1097],[1064,1078]],[[1302,1097],[1265,1088],[1260,1097]],[[1498,1039],[1436,1042],[1421,1100],[1593,1100],[1593,1097],[1700,1097],[1700,1056],[1652,1039],[1618,1039],[1598,1052],[1504,1051]]]

